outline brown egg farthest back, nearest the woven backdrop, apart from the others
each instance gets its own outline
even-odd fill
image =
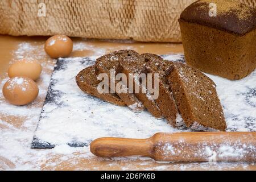
[[[44,44],[44,50],[52,58],[68,57],[73,49],[72,40],[65,35],[55,35]]]

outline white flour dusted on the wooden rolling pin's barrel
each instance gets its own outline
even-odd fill
[[[235,143],[223,142],[220,144],[212,143],[210,146],[207,143],[198,143],[194,147],[191,144],[184,141],[175,143],[158,143],[156,145],[156,152],[164,154],[166,159],[172,158],[190,158],[192,156],[199,157],[201,159],[208,160],[209,162],[216,162],[217,160],[228,160],[228,159],[243,159],[243,157],[250,156],[256,158],[256,148],[250,144],[241,144],[239,141]],[[176,146],[176,147],[174,147]],[[189,148],[187,154],[184,148]]]

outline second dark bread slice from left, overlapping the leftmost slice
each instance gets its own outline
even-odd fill
[[[96,60],[96,74],[98,75],[100,73],[106,73],[110,78],[110,70],[114,69],[116,71],[119,64],[119,60],[130,55],[138,55],[138,53],[132,50],[121,50],[99,57]],[[114,84],[117,84],[117,82],[115,81]],[[126,89],[128,90],[128,88]],[[138,100],[138,98],[133,93],[117,93],[117,95],[133,111],[144,110],[144,105],[142,104],[141,101]]]

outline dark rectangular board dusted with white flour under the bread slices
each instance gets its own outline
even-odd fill
[[[162,57],[184,63],[184,56],[180,54]],[[115,106],[81,92],[75,76],[93,65],[95,59],[57,60],[32,148],[53,148],[60,144],[83,147],[99,137],[147,138],[158,132],[179,131],[147,111],[133,113],[127,107]],[[256,71],[239,81],[208,76],[216,82],[228,131],[256,131]]]

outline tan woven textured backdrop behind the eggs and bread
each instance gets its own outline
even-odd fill
[[[256,6],[255,0],[240,0]],[[38,16],[39,3],[46,17]],[[1,0],[0,34],[181,42],[177,19],[195,0]]]

